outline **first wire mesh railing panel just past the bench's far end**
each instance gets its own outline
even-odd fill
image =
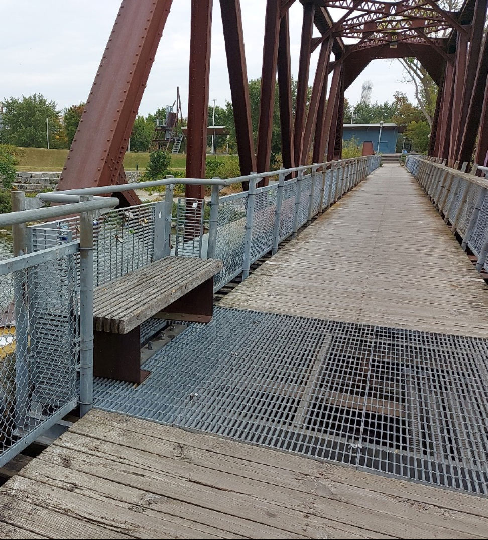
[[[215,276],[216,290],[242,272],[247,200],[247,193],[236,193],[219,201],[215,257],[224,268]]]

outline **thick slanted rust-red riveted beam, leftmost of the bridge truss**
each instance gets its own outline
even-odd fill
[[[58,189],[124,181],[124,154],[170,7],[171,0],[122,2]],[[131,192],[126,199],[138,202]]]

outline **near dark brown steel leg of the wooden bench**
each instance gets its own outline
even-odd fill
[[[150,372],[141,369],[139,327],[128,334],[109,334],[95,330],[93,375],[140,384]]]

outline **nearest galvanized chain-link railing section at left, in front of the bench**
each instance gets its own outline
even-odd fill
[[[14,257],[0,261],[0,467],[93,396],[93,212],[111,197],[0,215],[12,226]],[[25,224],[81,212],[79,238],[28,253]],[[79,373],[79,384],[77,381]]]

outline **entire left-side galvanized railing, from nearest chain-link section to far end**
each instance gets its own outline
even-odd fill
[[[379,159],[206,180],[210,201],[182,199],[178,205],[174,218],[183,238],[178,254],[222,259],[216,289],[239,273],[246,278],[253,261],[275,253],[280,241],[310,224],[377,168]],[[297,177],[286,180],[293,173]],[[272,175],[278,181],[257,187]],[[219,196],[223,186],[243,180],[249,191]],[[23,192],[12,192],[15,211],[0,215],[0,226],[14,232],[14,257],[0,261],[0,466],[77,405],[81,415],[91,408],[93,289],[177,252],[178,246],[171,246],[174,182],[145,184],[166,185],[164,201],[117,210],[118,199],[96,195],[133,185],[44,193],[39,198],[63,204],[32,210],[25,210]],[[42,223],[26,226],[33,221]]]

